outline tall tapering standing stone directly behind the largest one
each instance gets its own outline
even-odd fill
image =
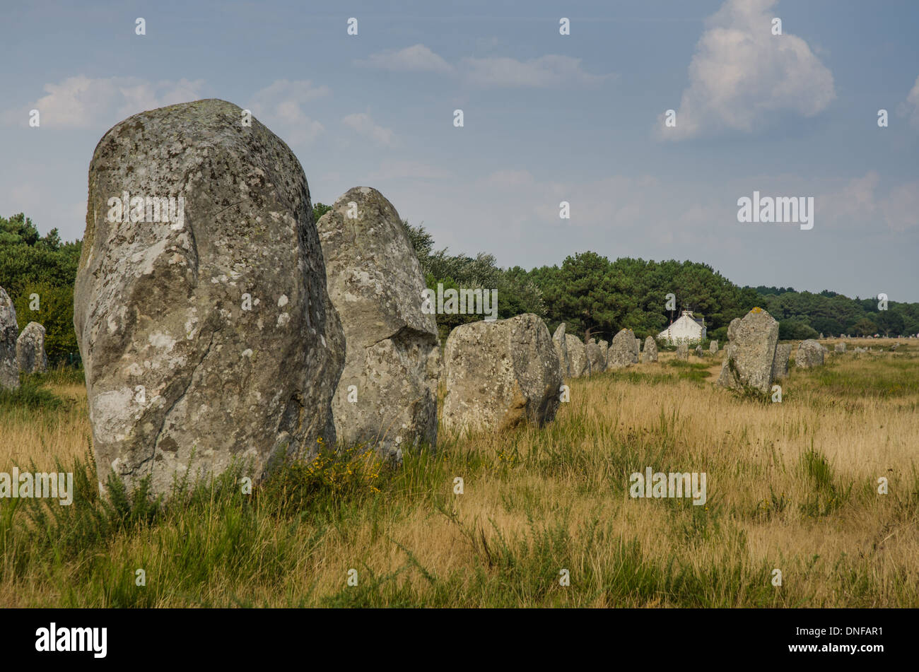
[[[376,189],[349,189],[316,229],[345,331],[345,368],[332,398],[335,435],[401,461],[403,449],[437,443],[437,298],[426,309],[429,290],[412,241]]]

